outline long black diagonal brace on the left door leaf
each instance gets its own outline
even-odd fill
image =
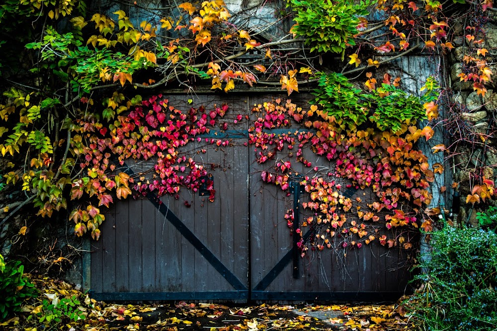
[[[135,173],[131,168],[126,165],[122,166],[123,171],[128,175]],[[193,232],[188,229],[186,225],[159,199],[155,194],[147,193],[147,198],[154,204],[154,206],[166,217],[166,219],[181,233],[181,235],[188,240],[190,244],[202,254],[202,256],[209,262],[237,291],[247,291],[247,287],[231,272],[218,258],[195,236]]]

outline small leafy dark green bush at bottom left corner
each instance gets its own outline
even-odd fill
[[[34,284],[23,273],[24,266],[20,261],[8,261],[0,272],[0,320],[20,311],[25,299],[37,296]]]

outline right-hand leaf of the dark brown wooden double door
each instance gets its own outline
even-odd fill
[[[288,99],[286,95],[252,98],[250,104],[278,97],[281,102]],[[305,103],[309,97],[292,95],[292,102],[309,107]],[[264,113],[251,116],[250,125],[257,116],[263,117]],[[300,125],[292,125],[289,129],[265,130],[276,136],[288,132],[293,135],[295,131],[306,132]],[[314,167],[333,169],[334,164],[324,156],[315,154],[310,148],[304,148],[303,159],[312,164],[311,167],[306,167],[297,161],[296,149],[297,147],[293,153],[285,148],[276,151],[271,162],[262,164],[257,162],[258,152],[254,153],[253,148],[250,149],[250,298],[279,301],[397,299],[410,279],[407,254],[400,250],[389,250],[376,241],[363,245],[360,249],[345,249],[341,246],[325,248],[323,251],[310,249],[301,257],[294,241],[296,234],[293,233],[294,229],[287,226],[285,214],[299,208],[302,223],[304,217],[309,216],[302,209],[302,203],[309,200],[309,194],[293,192],[291,187],[290,193],[284,192],[275,185],[264,183],[261,173],[271,170],[274,172],[274,164],[289,161],[295,177],[291,182],[299,183],[305,176],[313,177],[316,174]],[[345,184],[347,183],[343,185],[343,196],[360,198],[364,202],[373,201],[370,190],[346,189]],[[305,243],[309,243],[316,235],[312,227],[301,229]],[[383,230],[380,229],[378,235]]]

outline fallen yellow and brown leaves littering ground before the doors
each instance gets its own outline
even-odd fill
[[[377,331],[414,330],[400,302],[397,304],[246,304],[188,303],[123,304],[96,301],[71,284],[43,276],[29,275],[40,295],[26,302],[22,312],[0,322],[8,331]],[[61,318],[60,322],[39,322],[48,314],[43,300],[57,304],[76,298],[74,307],[84,319]],[[3,328],[3,329],[2,329]]]

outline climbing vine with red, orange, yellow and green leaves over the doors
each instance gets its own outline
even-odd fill
[[[448,55],[457,44],[452,24],[468,17],[470,6],[478,15],[463,27],[468,52],[456,76],[477,96],[490,94],[484,26],[492,0],[263,2],[255,9],[222,0],[161,8],[141,1],[112,8],[83,0],[0,5],[0,185],[9,197],[0,224],[32,203],[41,217],[66,217],[67,210],[78,236],[98,239],[105,211],[118,199],[179,199],[180,190],[200,186],[217,199],[206,165],[183,150],[232,144],[210,130],[229,131],[226,114],[233,124],[248,117],[222,103],[179,109],[167,90],[271,87],[290,98],[306,89],[309,105],[268,98],[254,106],[249,123],[256,162],[268,167],[261,179],[286,193],[298,180],[307,194],[301,252],[372,241],[411,249],[413,229],[429,232],[431,218],[443,211],[431,203],[430,185],[446,166],[430,162],[418,145],[437,129],[445,96],[438,91],[446,84],[429,78],[421,90],[407,91],[385,65],[414,52]],[[454,132],[458,121],[450,122]],[[455,147],[438,143],[433,151]],[[313,164],[305,150],[329,164]],[[296,173],[296,162],[305,173]],[[475,170],[466,203],[494,197],[488,175]],[[293,226],[292,210],[286,219]],[[16,235],[24,236],[28,224],[19,227]]]

